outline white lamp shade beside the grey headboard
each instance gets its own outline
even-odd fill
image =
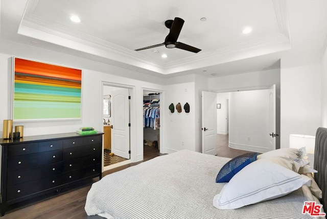
[[[307,135],[290,135],[290,147],[301,148],[306,147],[307,154],[314,154],[315,152],[315,136]]]

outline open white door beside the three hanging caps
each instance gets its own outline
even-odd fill
[[[217,155],[217,93],[202,91],[202,153]]]

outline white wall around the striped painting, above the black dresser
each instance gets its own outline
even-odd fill
[[[131,107],[131,160],[143,158],[143,94],[142,87],[164,90],[158,83],[162,78],[134,72],[112,65],[53,52],[36,47],[0,41],[0,135],[3,120],[11,118],[12,56],[51,62],[82,69],[82,119],[74,121],[19,122],[24,125],[24,136],[75,132],[81,126],[93,126],[103,130],[102,81],[125,84],[132,87]],[[136,73],[136,74],[135,74]],[[135,77],[139,80],[133,79]],[[151,82],[146,82],[151,81]]]

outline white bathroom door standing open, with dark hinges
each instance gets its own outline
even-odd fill
[[[130,159],[128,96],[128,89],[111,92],[111,152],[126,159]]]

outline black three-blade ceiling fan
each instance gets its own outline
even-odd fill
[[[177,38],[179,36],[179,33],[183,27],[184,20],[179,17],[175,17],[174,20],[166,20],[165,21],[165,26],[170,29],[169,34],[166,36],[165,42],[162,42],[157,45],[149,46],[149,47],[144,47],[140,49],[136,49],[135,51],[140,51],[140,50],[146,50],[146,49],[151,49],[155,47],[160,47],[160,46],[166,46],[166,48],[172,49],[172,48],[178,48],[194,53],[198,53],[201,50],[195,47],[192,47],[190,45],[186,45],[185,43],[182,42],[177,42]]]

